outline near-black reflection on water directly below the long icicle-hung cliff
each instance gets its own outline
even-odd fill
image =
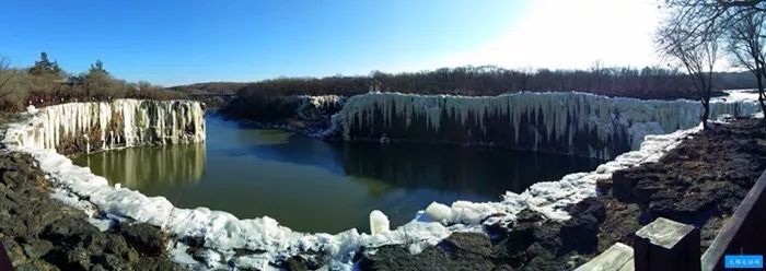
[[[347,175],[475,197],[522,192],[534,182],[560,178],[570,168],[594,165],[562,155],[451,144],[344,144],[340,149]]]

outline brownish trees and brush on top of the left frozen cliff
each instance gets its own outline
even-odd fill
[[[70,73],[46,52],[28,68],[12,68],[8,58],[0,58],[0,110],[125,97],[167,99],[184,95],[146,81],[131,83],[116,79],[101,60],[94,61],[85,72]]]

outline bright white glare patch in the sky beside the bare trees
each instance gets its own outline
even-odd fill
[[[446,66],[588,68],[660,63],[653,34],[655,0],[535,0],[508,34]]]

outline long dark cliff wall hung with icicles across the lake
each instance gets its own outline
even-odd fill
[[[710,107],[711,119],[759,109],[751,98],[717,98]],[[369,93],[348,98],[338,115],[346,140],[385,137],[500,144],[612,158],[637,150],[647,134],[697,126],[701,106],[686,99],[610,98],[577,92],[487,97]]]

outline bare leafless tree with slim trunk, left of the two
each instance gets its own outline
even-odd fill
[[[699,2],[699,1],[695,1]],[[688,73],[699,102],[703,105],[700,120],[708,129],[710,117],[710,96],[712,93],[712,69],[718,60],[719,30],[711,23],[709,27],[699,28],[698,21],[688,17],[687,5],[670,7],[670,16],[662,22],[658,31],[660,50],[677,60]]]

